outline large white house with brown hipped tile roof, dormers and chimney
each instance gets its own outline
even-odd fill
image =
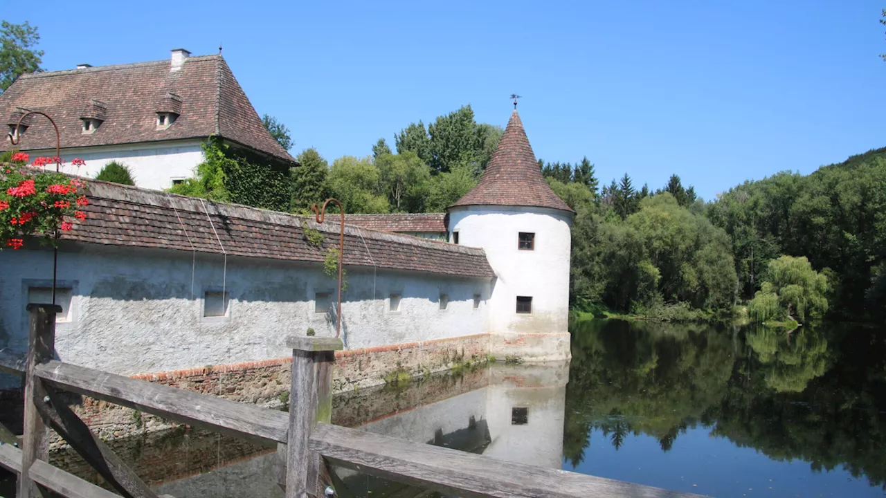
[[[105,164],[128,166],[136,185],[167,189],[194,175],[201,144],[221,136],[274,167],[296,161],[261,123],[221,55],[172,58],[119,66],[77,66],[69,71],[23,74],[0,95],[0,117],[18,144],[5,138],[0,152],[20,150],[54,156],[58,125],[66,173],[95,176]],[[4,135],[6,131],[4,130]],[[86,161],[79,170],[70,161]]]

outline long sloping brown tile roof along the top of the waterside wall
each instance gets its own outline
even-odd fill
[[[89,180],[87,197],[87,219],[63,232],[63,240],[314,262],[324,261],[327,249],[338,247],[334,216],[318,224],[294,214],[96,180]],[[323,232],[322,246],[308,243],[304,227]],[[347,225],[345,265],[478,278],[495,275],[482,249]]]

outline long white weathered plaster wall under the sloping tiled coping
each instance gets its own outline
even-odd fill
[[[27,349],[27,280],[48,279],[52,253],[0,253],[0,348]],[[342,337],[347,348],[383,346],[485,331],[486,279],[347,268]],[[335,334],[335,316],[315,313],[315,292],[336,282],[320,264],[299,265],[221,255],[66,245],[58,253],[58,281],[74,287],[70,323],[58,323],[56,350],[66,362],[130,375],[286,357],[284,346],[308,327]],[[229,316],[203,317],[206,290],[229,293]],[[193,286],[192,286],[193,285]],[[193,291],[192,291],[193,289]],[[193,292],[193,293],[192,293]],[[449,298],[439,309],[439,294]],[[388,296],[400,293],[400,311]],[[374,298],[373,298],[374,296]],[[3,377],[0,377],[3,378]],[[9,384],[11,377],[6,377]],[[12,385],[17,385],[13,382]],[[0,388],[4,382],[0,381]]]

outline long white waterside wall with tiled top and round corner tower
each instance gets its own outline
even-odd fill
[[[63,361],[125,375],[233,369],[289,362],[291,335],[335,334],[336,281],[323,272],[338,246],[334,216],[318,225],[95,181],[88,197],[87,219],[63,232],[58,252]],[[568,358],[572,215],[515,112],[477,187],[449,214],[425,216],[452,243],[346,225],[342,382],[486,354]],[[0,266],[0,348],[23,353],[25,306],[47,300],[52,252],[27,241],[0,253]]]

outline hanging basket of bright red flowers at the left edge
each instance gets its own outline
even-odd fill
[[[58,158],[38,157],[27,166],[26,153],[12,155],[0,164],[0,250],[19,249],[25,237],[41,237],[56,245],[58,230],[73,230],[86,219],[81,211],[89,200],[83,196],[86,183],[67,175],[43,171],[44,166],[62,164]],[[74,166],[84,161],[75,159]]]

